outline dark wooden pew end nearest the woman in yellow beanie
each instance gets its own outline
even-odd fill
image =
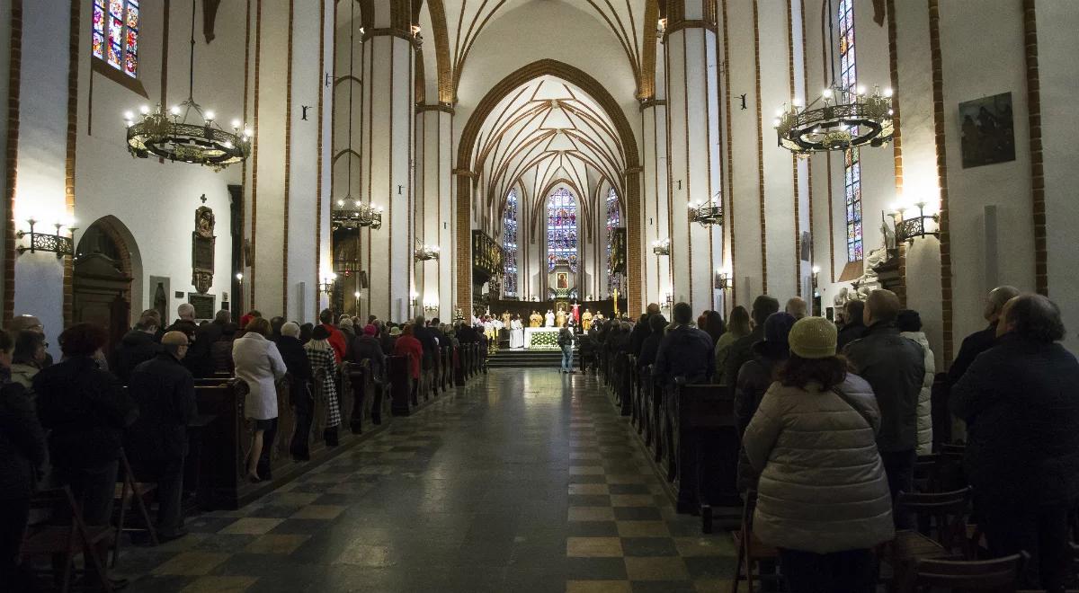
[[[734,398],[721,385],[675,385],[671,398],[678,511],[741,505]]]

